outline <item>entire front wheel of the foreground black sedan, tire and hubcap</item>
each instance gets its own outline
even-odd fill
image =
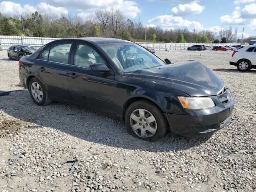
[[[162,110],[148,100],[138,100],[130,104],[125,113],[125,126],[132,136],[148,141],[158,140],[168,130],[168,122]],[[133,130],[132,126],[137,129]],[[141,130],[144,130],[143,135]]]

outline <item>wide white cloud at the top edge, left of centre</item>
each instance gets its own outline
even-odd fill
[[[64,6],[80,12],[91,12],[97,9],[110,9],[114,7],[123,12],[126,18],[134,19],[141,9],[134,1],[129,0],[46,0],[54,6]]]

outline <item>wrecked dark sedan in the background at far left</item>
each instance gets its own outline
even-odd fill
[[[9,59],[20,60],[25,55],[31,55],[36,49],[29,45],[14,45],[10,46],[7,50],[7,55]]]

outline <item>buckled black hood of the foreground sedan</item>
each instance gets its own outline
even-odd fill
[[[138,70],[131,75],[190,96],[214,96],[224,87],[224,82],[212,70],[195,61]]]

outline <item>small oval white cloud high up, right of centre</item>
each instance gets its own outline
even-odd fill
[[[202,13],[204,10],[204,6],[200,6],[197,3],[192,4],[179,4],[176,7],[173,7],[171,11],[174,13],[174,15],[189,15],[189,14],[198,14]]]

